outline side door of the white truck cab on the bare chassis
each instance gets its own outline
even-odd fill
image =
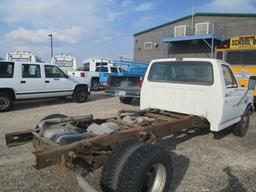
[[[238,83],[228,65],[222,64],[222,71],[225,82],[222,123],[225,123],[239,117],[240,107],[237,104],[245,90],[238,88]]]

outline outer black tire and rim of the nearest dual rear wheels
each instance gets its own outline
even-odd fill
[[[169,192],[172,181],[172,159],[159,145],[143,145],[123,166],[117,191]]]

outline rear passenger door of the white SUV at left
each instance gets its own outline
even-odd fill
[[[20,90],[17,94],[32,98],[45,90],[44,79],[41,76],[39,64],[21,64]]]

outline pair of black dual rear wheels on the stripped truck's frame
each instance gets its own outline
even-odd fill
[[[172,160],[159,145],[125,141],[115,147],[101,175],[104,192],[168,192]]]

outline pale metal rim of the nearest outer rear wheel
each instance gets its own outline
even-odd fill
[[[162,164],[154,164],[146,173],[142,192],[161,192],[166,182],[166,171]]]

